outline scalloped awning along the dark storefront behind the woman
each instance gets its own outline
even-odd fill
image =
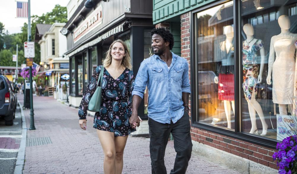
[[[98,36],[96,39],[92,40],[92,41],[89,41],[87,42],[86,44],[83,44],[82,46],[78,47],[77,49],[73,50],[72,52],[69,52],[69,53],[66,53],[69,57],[71,57],[72,55],[75,55],[76,53],[88,48],[88,47],[91,47],[93,45],[96,45],[98,44],[100,41],[116,34],[116,33],[120,33],[123,31],[123,25],[124,23],[118,25],[117,27],[109,30],[108,32]]]

